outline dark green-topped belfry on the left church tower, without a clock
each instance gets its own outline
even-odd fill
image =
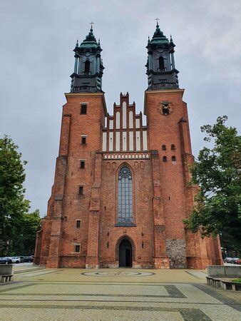
[[[74,68],[71,75],[71,93],[102,92],[103,62],[101,60],[101,44],[91,30],[80,45],[76,43]]]

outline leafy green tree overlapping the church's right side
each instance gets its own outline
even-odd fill
[[[240,213],[240,146],[236,128],[225,126],[227,116],[217,118],[211,126],[201,127],[206,133],[204,147],[190,168],[192,181],[200,186],[190,217],[184,220],[193,233],[202,237],[222,235],[229,250],[241,249]]]

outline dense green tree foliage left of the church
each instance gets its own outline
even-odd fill
[[[24,198],[26,163],[11,138],[0,139],[0,255],[33,254],[40,218]]]

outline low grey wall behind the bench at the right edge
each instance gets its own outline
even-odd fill
[[[210,277],[241,277],[241,265],[209,265],[207,275]]]

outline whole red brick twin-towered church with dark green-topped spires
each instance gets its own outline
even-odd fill
[[[146,46],[144,125],[128,93],[120,93],[109,115],[102,49],[92,26],[77,42],[36,264],[198,269],[222,264],[219,239],[202,240],[183,225],[197,187],[188,184],[193,155],[174,47],[157,24]]]

